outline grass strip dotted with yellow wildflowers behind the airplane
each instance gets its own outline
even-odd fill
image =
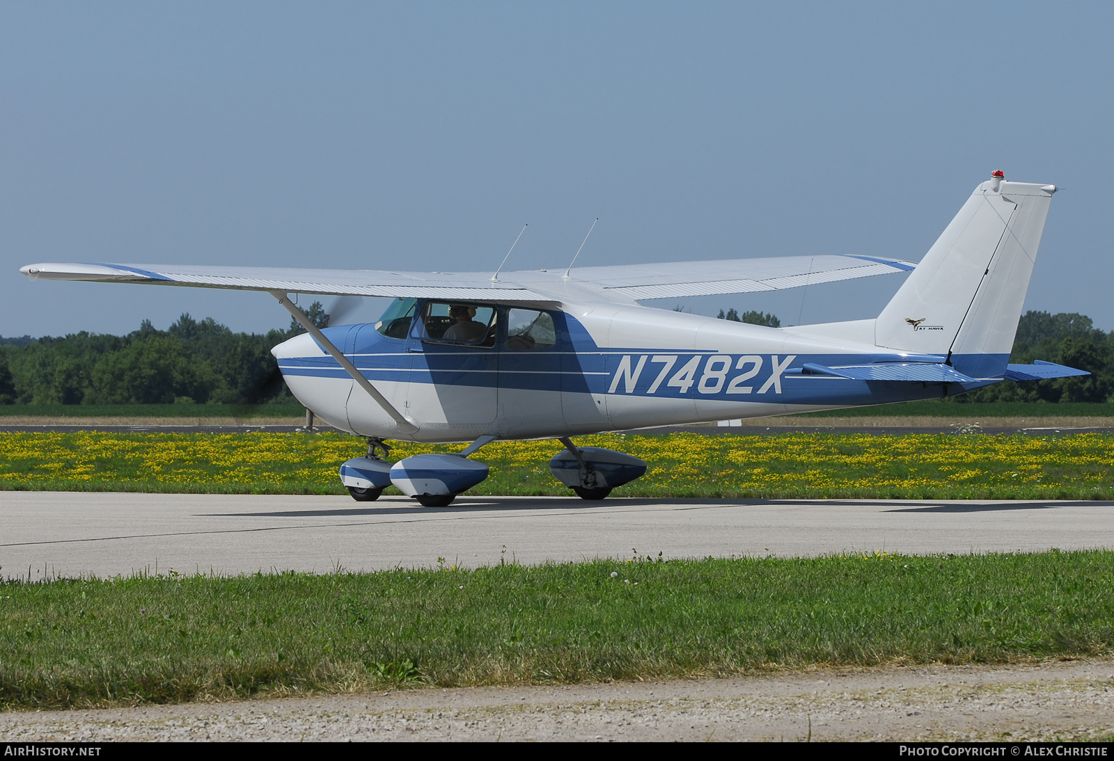
[[[1114,436],[909,434],[600,435],[577,442],[642,457],[615,496],[1114,498]],[[392,457],[458,452],[400,444]],[[496,442],[470,495],[569,495],[548,470],[560,444]],[[2,433],[0,490],[344,494],[338,467],[364,453],[335,433]],[[389,487],[388,493],[397,493]]]

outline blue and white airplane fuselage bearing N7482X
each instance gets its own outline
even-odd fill
[[[482,345],[470,345],[433,337],[423,324],[433,319],[423,318],[436,312],[433,302],[410,302],[410,316],[387,330],[391,335],[384,335],[382,323],[324,333],[417,432],[400,432],[309,335],[274,349],[299,401],[343,431],[437,443],[483,435],[558,437],[939,398],[1001,377],[998,370],[997,377],[979,376],[975,384],[913,384],[804,368],[947,358],[872,345],[873,320],[843,324],[851,328],[842,335],[862,334],[861,340],[850,340],[809,333],[809,326],[770,328],[637,304],[476,303],[472,312],[490,315],[490,327]],[[522,325],[543,323],[544,336],[537,327],[528,342],[518,335]],[[961,357],[951,359],[961,367]],[[980,355],[980,363],[986,359]],[[1006,360],[996,357],[993,364],[1004,369]]]

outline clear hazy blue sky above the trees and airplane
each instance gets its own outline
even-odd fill
[[[919,259],[970,190],[1064,188],[1026,308],[1114,328],[1110,3],[0,4],[0,335],[234,329],[270,296],[46,260],[339,268]],[[688,299],[873,317],[901,276]],[[652,303],[672,307],[675,303]],[[358,317],[371,319],[381,303]]]

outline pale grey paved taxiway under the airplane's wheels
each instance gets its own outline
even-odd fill
[[[371,571],[595,557],[1114,547],[1111,502],[0,492],[0,576]]]

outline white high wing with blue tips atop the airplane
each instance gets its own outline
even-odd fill
[[[746,294],[795,288],[888,273],[909,271],[909,261],[866,256],[797,256],[715,261],[579,267],[566,279],[560,270],[504,273],[416,273],[384,269],[293,269],[198,265],[57,264],[27,265],[31,279],[145,283],[300,294],[554,302],[575,283],[608,300]],[[582,291],[583,293],[583,291]]]

